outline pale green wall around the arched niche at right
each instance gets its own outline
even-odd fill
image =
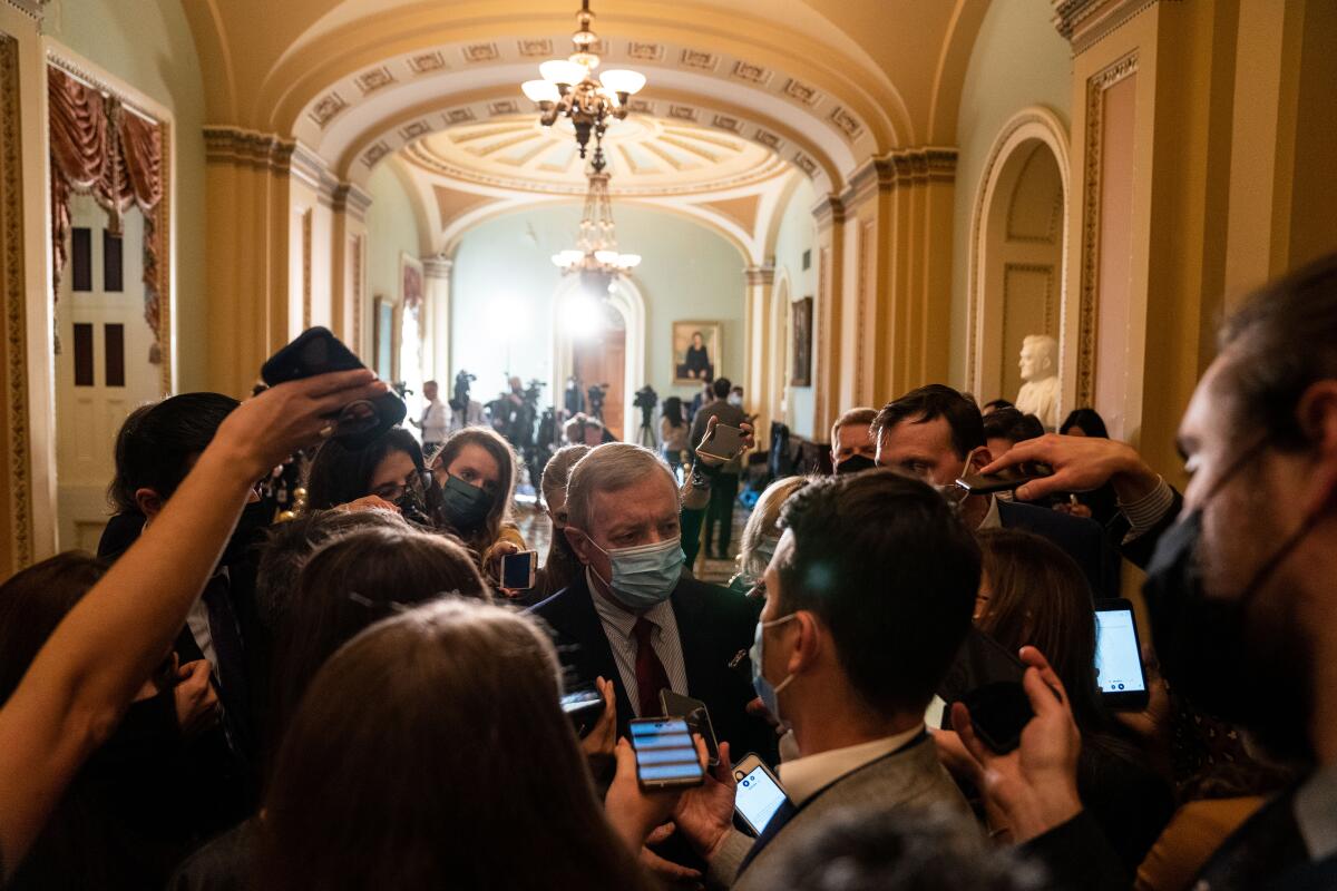
[[[967,386],[965,338],[971,222],[981,176],[1003,126],[1023,108],[1042,106],[1070,120],[1072,49],[1054,29],[1052,9],[1036,0],[993,0],[980,24],[965,71],[957,120],[956,195],[952,223],[953,386]],[[979,394],[981,398],[992,395]],[[1015,395],[1015,394],[1013,394]]]

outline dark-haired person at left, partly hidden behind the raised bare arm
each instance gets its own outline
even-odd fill
[[[219,426],[241,405],[218,393],[174,395],[126,418],[116,437],[112,517],[98,556],[116,560],[162,513]],[[259,478],[259,477],[257,477]],[[254,488],[218,560],[213,577],[191,606],[176,637],[183,673],[203,663],[221,703],[221,723],[187,751],[191,780],[202,792],[199,807],[222,828],[254,804],[259,731],[254,687],[263,675],[259,653],[247,648],[257,636],[251,592],[251,549],[273,520],[273,506]],[[213,792],[210,792],[213,789]]]

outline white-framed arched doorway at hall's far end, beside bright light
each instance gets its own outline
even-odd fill
[[[619,439],[636,442],[640,413],[635,394],[646,383],[646,302],[635,282],[614,282],[607,299],[580,289],[575,277],[564,277],[554,301],[552,381],[556,397],[575,375],[583,407],[588,410],[588,389],[607,383],[604,423]]]

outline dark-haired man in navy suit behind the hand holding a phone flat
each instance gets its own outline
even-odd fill
[[[888,402],[873,421],[873,437],[880,466],[916,476],[959,498],[971,529],[1025,529],[1044,536],[1076,560],[1094,592],[1119,596],[1119,558],[1099,525],[989,494],[965,494],[956,486],[992,457],[980,410],[952,387],[931,383]]]

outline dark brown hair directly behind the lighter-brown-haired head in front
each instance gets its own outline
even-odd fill
[[[468,552],[444,536],[373,526],[317,549],[297,576],[274,651],[275,747],[334,651],[396,610],[448,593],[492,597]]]

